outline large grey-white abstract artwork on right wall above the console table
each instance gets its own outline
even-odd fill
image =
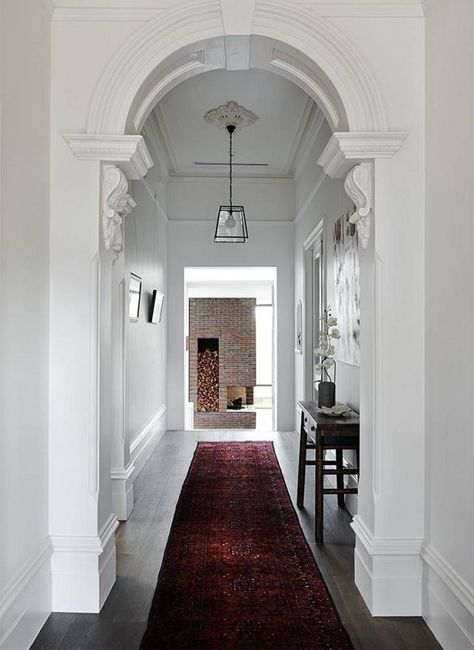
[[[360,366],[360,264],[355,224],[346,214],[334,224],[335,305],[341,338],[336,359]]]

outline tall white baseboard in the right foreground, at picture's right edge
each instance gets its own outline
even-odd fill
[[[443,648],[474,649],[474,589],[430,545],[423,547],[423,618]]]

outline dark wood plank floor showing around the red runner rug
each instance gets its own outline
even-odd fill
[[[117,581],[100,614],[52,614],[35,650],[138,648],[146,627],[181,485],[198,440],[274,440],[291,497],[296,501],[297,436],[231,431],[169,432],[135,482],[135,507],[117,532]],[[356,648],[440,648],[421,618],[372,618],[353,581],[350,515],[325,497],[324,545],[314,544],[314,470],[308,468],[307,508],[301,526],[342,621]],[[179,650],[179,649],[177,649]],[[290,649],[282,649],[290,650]]]

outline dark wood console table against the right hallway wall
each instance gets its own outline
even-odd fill
[[[318,412],[316,402],[298,402],[301,409],[300,451],[298,462],[298,491],[296,504],[304,505],[306,465],[316,466],[316,543],[323,542],[323,504],[325,494],[337,494],[337,503],[344,507],[345,494],[357,494],[357,488],[344,487],[344,476],[359,475],[359,416],[351,412],[332,417]],[[315,460],[307,459],[308,449],[316,452]],[[325,452],[334,449],[336,460],[326,460]],[[343,450],[354,449],[357,467],[345,467]],[[336,488],[324,487],[324,476],[336,476]]]

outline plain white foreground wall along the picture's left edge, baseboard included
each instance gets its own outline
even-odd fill
[[[0,4],[0,647],[51,609],[48,538],[49,49],[38,0]]]

